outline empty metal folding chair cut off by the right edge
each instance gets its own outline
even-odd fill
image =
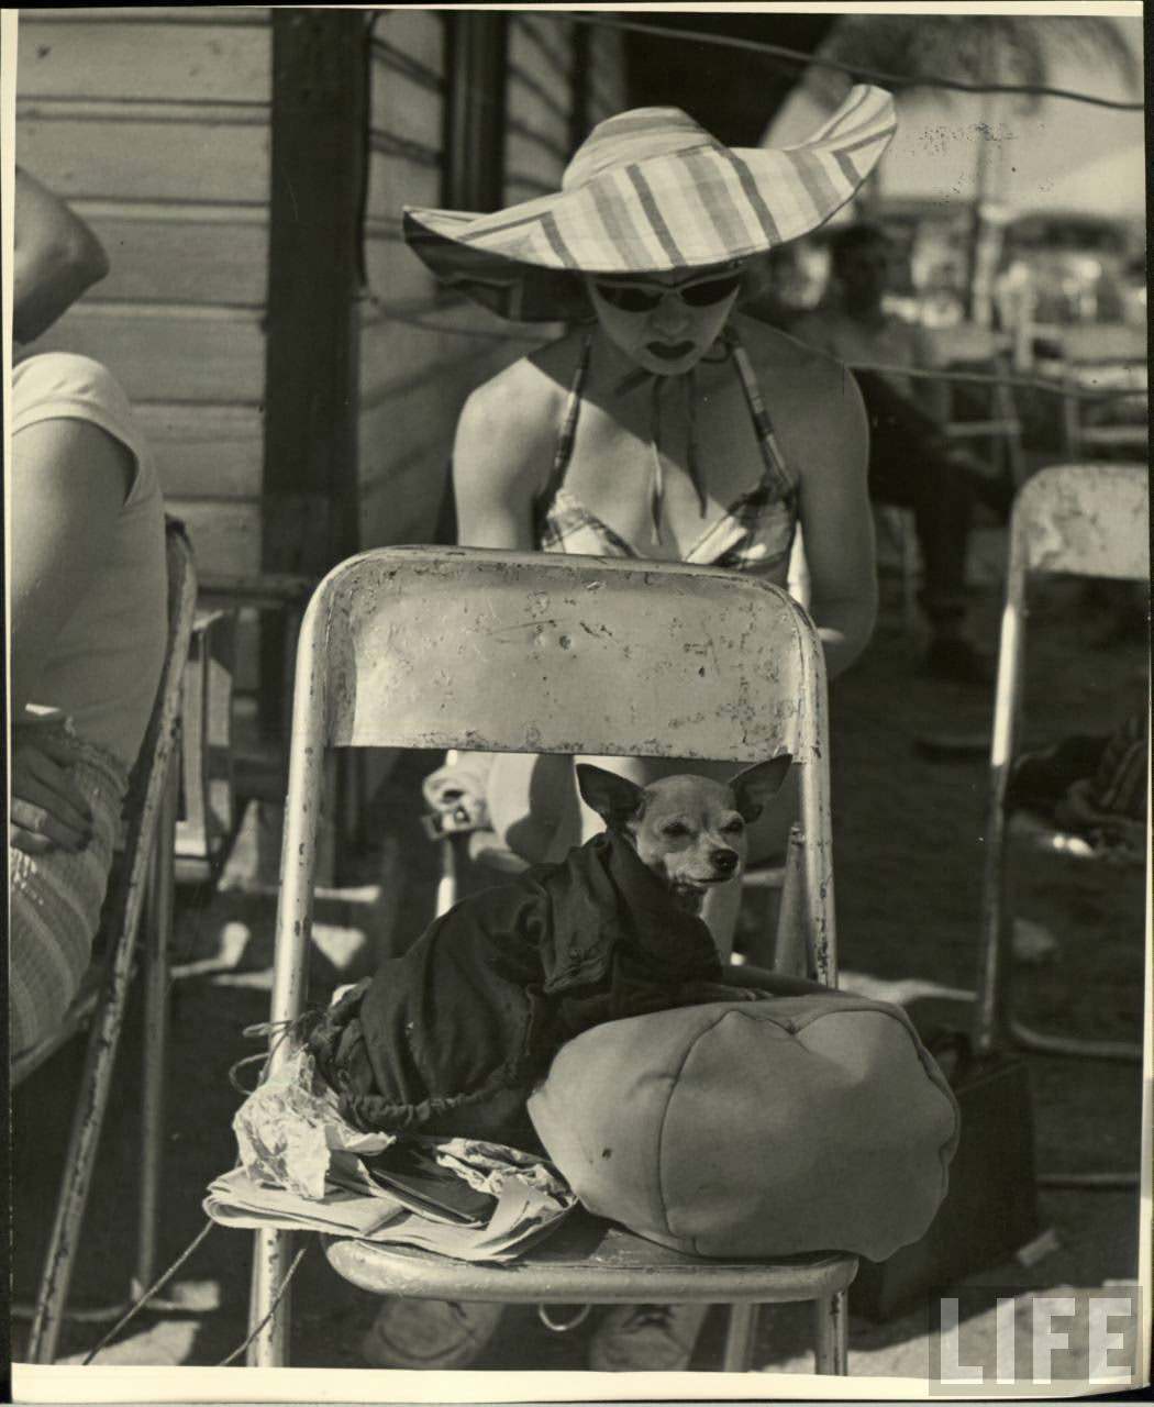
[[[1140,1061],[1141,1047],[1124,1041],[1075,1040],[1033,1031],[1016,1020],[1012,965],[1010,843],[1025,827],[1008,812],[1006,788],[1020,732],[1026,598],[1030,577],[1065,573],[1113,580],[1150,580],[1150,483],[1144,464],[1058,464],[1034,474],[1017,494],[998,650],[989,801],[981,910],[981,968],[975,1043],[989,1051],[1005,1041],[1041,1055]],[[1030,827],[1033,844],[1060,850],[1054,832]],[[1113,1173],[1082,1178],[1055,1173],[1051,1185],[1117,1186],[1134,1179]]]

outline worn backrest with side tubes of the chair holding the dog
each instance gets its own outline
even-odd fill
[[[329,573],[297,651],[274,1020],[298,1010],[325,746],[791,753],[819,968],[832,953],[825,663],[805,611],[777,587],[466,547],[386,547]]]

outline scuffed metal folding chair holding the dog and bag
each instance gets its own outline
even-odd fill
[[[326,747],[638,754],[752,763],[792,753],[794,868],[811,968],[836,981],[825,664],[781,590],[705,567],[463,547],[391,547],[336,567],[301,628],[272,1020],[305,999]],[[273,1068],[287,1043],[272,1052]],[[249,1363],[287,1362],[291,1234],[256,1234]],[[379,1294],[531,1303],[732,1306],[725,1366],[749,1366],[756,1306],[812,1301],[818,1372],[846,1372],[851,1255],[780,1263],[678,1255],[608,1224],[512,1265],[331,1240]],[[281,1297],[277,1293],[283,1289]]]

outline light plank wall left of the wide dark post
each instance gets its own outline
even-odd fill
[[[260,566],[270,84],[265,8],[21,11],[17,160],[111,260],[31,350],[117,374],[203,573]]]

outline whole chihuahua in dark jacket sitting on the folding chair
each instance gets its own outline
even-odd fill
[[[346,1117],[516,1144],[529,1137],[525,1099],[566,1040],[625,1016],[768,995],[719,981],[699,910],[739,878],[746,827],[788,770],[775,757],[729,782],[684,774],[638,787],[578,764],[608,843],[470,895],[319,1014],[310,1048]],[[619,847],[660,882],[666,909],[615,868]]]

